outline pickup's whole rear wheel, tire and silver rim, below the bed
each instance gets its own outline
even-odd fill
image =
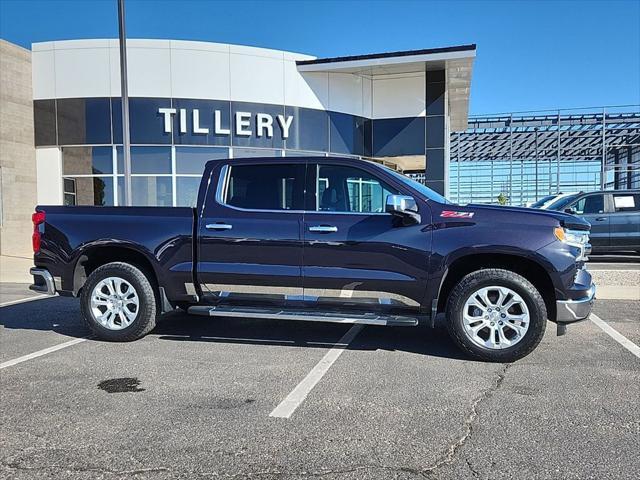
[[[156,295],[137,267],[123,262],[96,268],[85,283],[80,309],[86,325],[101,340],[130,342],[156,325]]]

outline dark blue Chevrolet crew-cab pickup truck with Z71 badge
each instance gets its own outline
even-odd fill
[[[510,362],[589,316],[590,225],[564,212],[455,205],[380,164],[206,164],[194,208],[39,205],[32,290],[80,297],[103,340],[176,308],[210,317],[434,326]]]

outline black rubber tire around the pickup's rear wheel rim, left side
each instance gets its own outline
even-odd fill
[[[111,330],[103,326],[94,316],[91,308],[91,294],[102,280],[118,277],[133,286],[138,295],[138,309],[132,323],[121,330]],[[147,276],[137,267],[124,262],[112,262],[96,268],[82,288],[80,310],[84,323],[101,340],[111,342],[131,342],[144,337],[156,326],[158,310],[157,296]]]

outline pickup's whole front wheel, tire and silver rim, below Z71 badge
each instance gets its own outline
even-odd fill
[[[472,272],[453,288],[447,302],[453,340],[481,360],[512,362],[540,343],[547,309],[538,290],[509,270]]]

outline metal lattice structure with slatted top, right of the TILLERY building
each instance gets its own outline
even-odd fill
[[[603,188],[640,188],[639,106],[472,117],[451,134],[454,202],[529,205]]]

